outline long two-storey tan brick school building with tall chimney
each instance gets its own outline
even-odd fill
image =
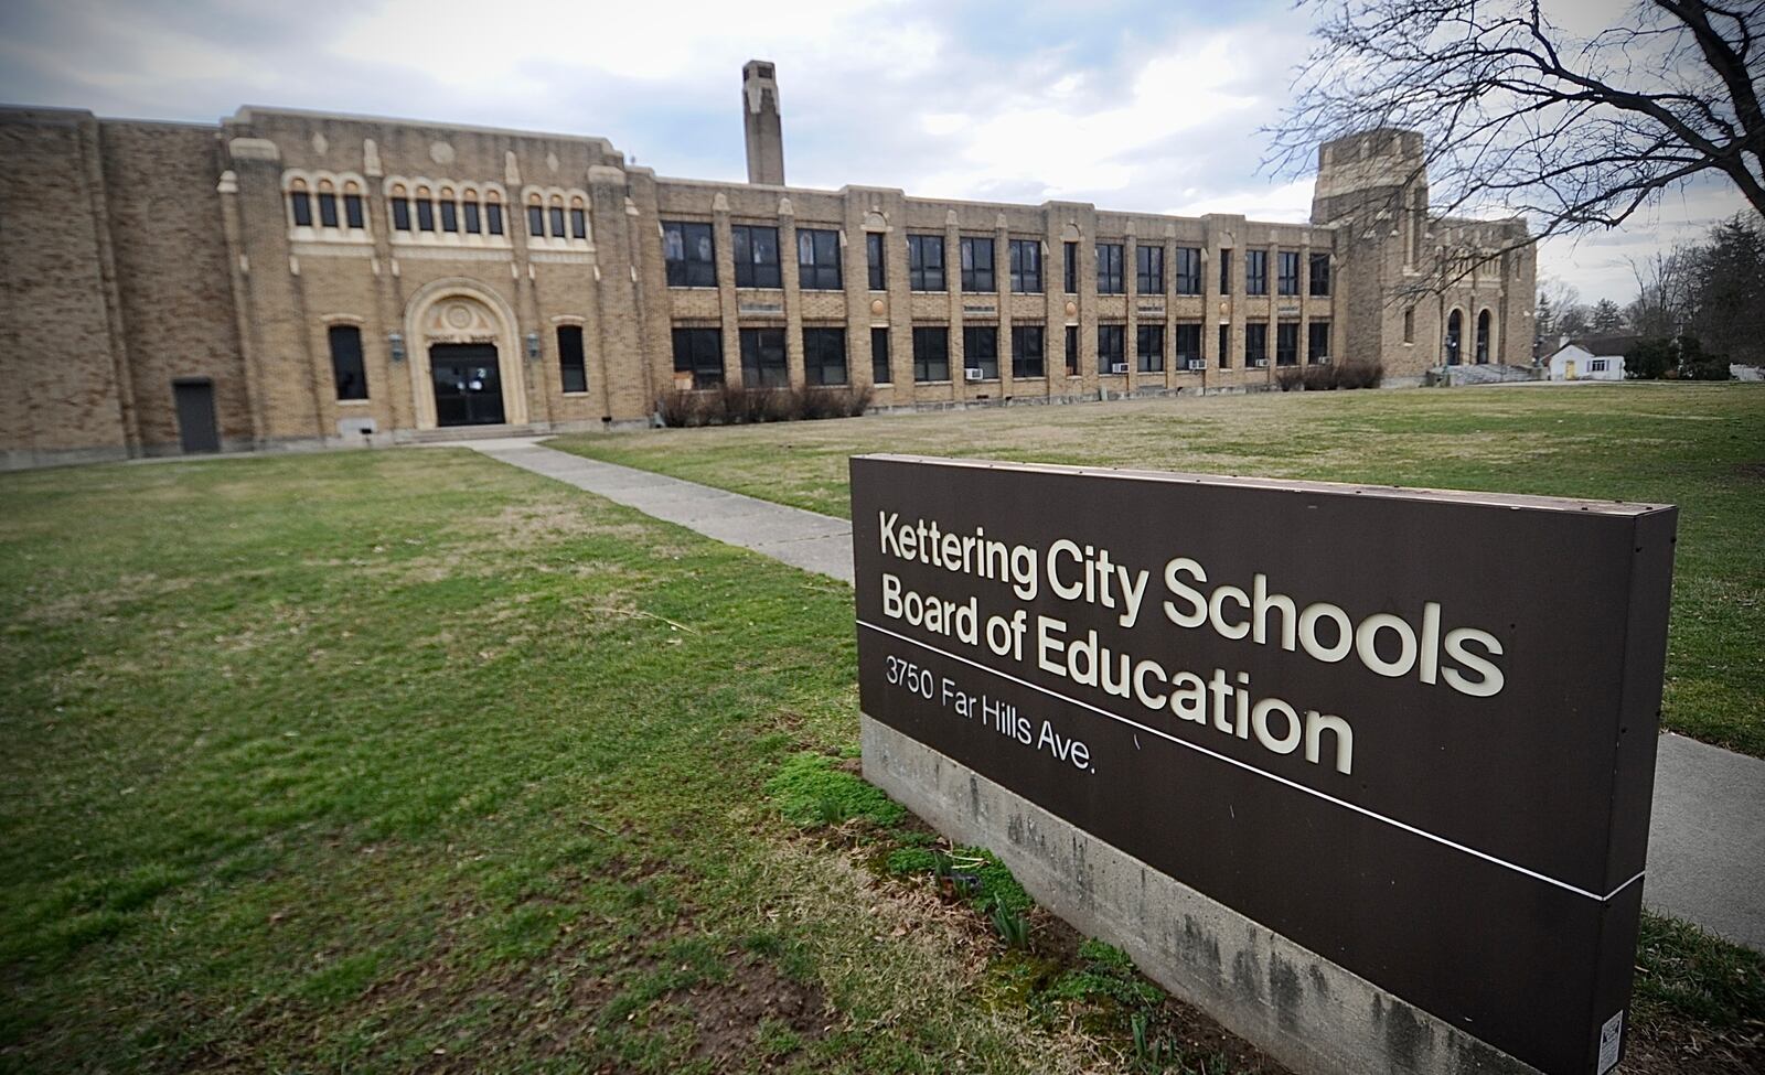
[[[598,138],[4,109],[5,466],[600,429],[722,385],[921,408],[1530,357],[1525,226],[1430,217],[1414,134],[1322,147],[1313,222],[1278,224],[789,187],[770,64],[741,108],[748,184]],[[1412,297],[1449,249],[1476,270]]]

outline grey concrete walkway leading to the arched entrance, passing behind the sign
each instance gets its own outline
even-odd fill
[[[852,581],[852,526],[845,519],[582,459],[533,438],[448,447],[473,448],[791,567]],[[1765,761],[1661,736],[1643,902],[1765,951]]]

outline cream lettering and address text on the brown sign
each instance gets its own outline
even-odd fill
[[[1025,602],[1047,588],[1064,602],[1107,609],[1126,632],[1133,632],[1142,616],[1160,616],[1227,641],[1278,646],[1324,664],[1357,660],[1380,676],[1416,676],[1472,697],[1502,690],[1500,641],[1479,627],[1446,625],[1435,600],[1421,602],[1414,616],[1373,613],[1357,621],[1341,605],[1320,600],[1326,595],[1281,593],[1271,588],[1264,572],[1221,579],[1190,556],[1140,567],[1114,556],[1108,547],[1064,537],[1047,545],[1018,544],[988,537],[983,526],[955,531],[937,519],[909,521],[888,510],[877,512],[877,535],[884,561],[1010,583],[1011,593]],[[1304,699],[1264,695],[1246,671],[1177,667],[1170,657],[1110,646],[1096,630],[1071,632],[1066,620],[1031,614],[1020,605],[990,609],[980,597],[957,602],[909,590],[893,572],[882,574],[882,616],[969,646],[985,643],[994,657],[1031,662],[1077,687],[1151,711],[1168,710],[1181,720],[1239,740],[1253,738],[1274,754],[1303,750],[1308,763],[1354,773],[1352,715],[1326,713]],[[897,658],[890,671],[891,683],[918,688],[928,699],[943,695],[944,704],[964,715],[980,704],[974,695],[957,692],[953,681],[934,683],[905,660]],[[1008,724],[1001,731],[1018,741],[1055,750],[1089,768],[1084,743],[1063,750],[1063,740],[1047,722],[1031,729],[1027,718],[1011,713]]]

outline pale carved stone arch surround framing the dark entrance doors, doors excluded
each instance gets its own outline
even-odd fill
[[[528,422],[526,369],[515,316],[503,298],[468,279],[434,281],[411,297],[404,307],[404,339],[409,341],[411,397],[417,402],[417,427],[436,429],[436,378],[431,355],[439,346],[447,355],[468,348],[494,348],[501,388],[501,417],[508,425]],[[478,413],[482,415],[482,402]]]

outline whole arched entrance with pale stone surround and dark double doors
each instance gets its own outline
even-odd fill
[[[528,394],[514,314],[475,281],[436,281],[406,307],[417,427],[522,425]]]

